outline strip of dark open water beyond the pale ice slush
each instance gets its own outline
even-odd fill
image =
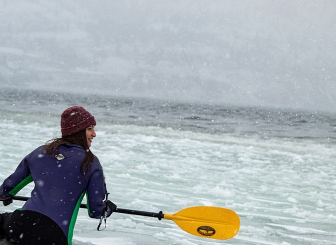
[[[99,94],[6,88],[0,90],[0,106],[5,111],[57,116],[72,105],[82,105],[98,120],[113,124],[336,143],[336,115],[326,112],[121,98]]]

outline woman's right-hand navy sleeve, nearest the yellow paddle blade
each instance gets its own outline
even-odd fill
[[[88,183],[87,187],[87,209],[91,218],[100,218],[105,208],[106,184],[104,180],[103,170],[96,170]],[[108,216],[111,210],[108,210]]]

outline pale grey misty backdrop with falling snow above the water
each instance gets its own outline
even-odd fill
[[[336,2],[0,2],[0,87],[336,112]]]

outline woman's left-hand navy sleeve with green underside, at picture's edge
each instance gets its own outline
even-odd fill
[[[6,200],[16,195],[23,187],[33,181],[27,157],[25,157],[17,169],[0,186],[0,200]]]

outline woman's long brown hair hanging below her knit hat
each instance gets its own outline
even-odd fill
[[[44,150],[48,155],[51,155],[53,152],[58,151],[58,148],[63,144],[77,144],[84,147],[86,154],[82,162],[80,163],[80,172],[82,175],[86,174],[91,169],[91,164],[94,160],[94,155],[90,151],[86,139],[86,129],[74,133],[72,135],[64,136],[61,138],[54,138],[47,141],[44,146]],[[84,168],[84,171],[83,171]]]

